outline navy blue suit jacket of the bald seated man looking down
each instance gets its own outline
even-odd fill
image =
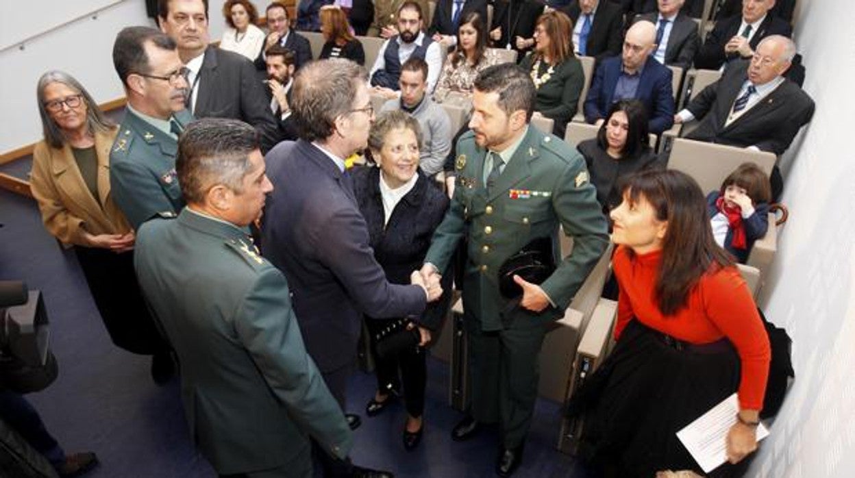
[[[608,114],[615,86],[621,76],[622,59],[613,56],[599,64],[593,75],[591,88],[585,98],[585,121],[595,123]],[[645,104],[650,132],[660,134],[674,124],[674,95],[671,86],[671,70],[657,62],[653,56],[647,58],[641,71],[635,98]]]

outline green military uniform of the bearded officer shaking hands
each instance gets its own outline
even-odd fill
[[[548,322],[570,300],[608,244],[605,218],[588,182],[582,156],[551,134],[528,127],[510,162],[487,191],[487,151],[472,132],[457,143],[457,187],[451,208],[425,257],[444,270],[459,239],[469,239],[463,278],[464,322],[469,335],[472,414],[498,422],[504,446],[522,445],[537,398],[538,363]],[[573,237],[560,260],[558,225]],[[540,286],[555,307],[540,313],[516,307],[498,289],[498,269],[532,239],[551,237],[557,269]],[[558,262],[560,260],[560,262]]]

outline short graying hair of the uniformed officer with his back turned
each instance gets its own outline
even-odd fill
[[[249,155],[259,149],[256,129],[244,121],[203,118],[187,125],[178,139],[175,171],[187,203],[203,204],[215,185],[244,192],[251,171]]]

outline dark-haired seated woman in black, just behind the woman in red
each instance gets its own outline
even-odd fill
[[[647,112],[636,99],[612,104],[597,138],[582,141],[576,149],[585,157],[605,214],[621,204],[622,180],[644,169],[665,166],[650,145]]]

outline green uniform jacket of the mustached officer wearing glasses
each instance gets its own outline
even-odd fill
[[[193,120],[187,110],[173,117],[182,130]],[[155,215],[178,214],[184,207],[175,174],[177,152],[173,134],[127,109],[109,154],[110,194],[134,229]]]

